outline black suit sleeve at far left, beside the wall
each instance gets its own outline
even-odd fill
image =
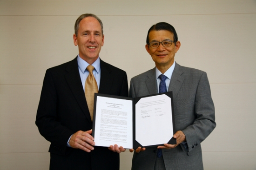
[[[47,70],[36,115],[36,125],[40,134],[54,147],[65,153],[67,140],[73,131],[63,126],[57,117],[57,92],[51,72]]]

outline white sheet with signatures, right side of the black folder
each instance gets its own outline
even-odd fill
[[[173,137],[171,98],[141,98],[135,105],[135,140],[142,146],[166,144]]]

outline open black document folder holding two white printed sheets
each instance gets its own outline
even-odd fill
[[[96,146],[126,149],[176,144],[172,92],[138,98],[95,93],[93,133]]]

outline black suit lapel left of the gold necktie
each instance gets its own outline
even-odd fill
[[[67,66],[66,71],[67,74],[65,75],[65,78],[67,80],[67,84],[69,85],[71,92],[74,94],[74,98],[76,99],[81,110],[84,112],[88,120],[90,120],[89,122],[91,122],[88,105],[85,99],[85,94],[79,75],[77,57],[71,61],[70,65]]]

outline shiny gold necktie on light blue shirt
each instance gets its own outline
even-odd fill
[[[89,71],[89,75],[85,81],[85,98],[90,111],[91,119],[93,121],[94,115],[94,93],[98,92],[98,85],[94,78],[93,70],[94,66],[88,65],[86,68]]]

